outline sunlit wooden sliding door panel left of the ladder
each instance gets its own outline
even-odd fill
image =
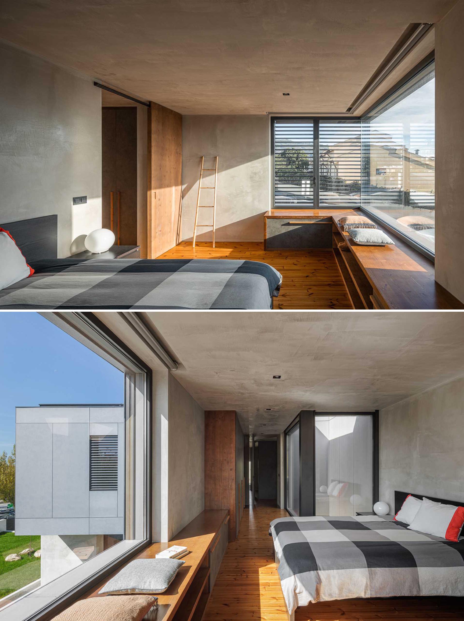
[[[179,242],[182,114],[151,102],[148,110],[148,258]]]

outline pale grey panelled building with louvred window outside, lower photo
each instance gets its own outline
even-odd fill
[[[124,538],[124,406],[16,408],[16,535],[46,584]]]

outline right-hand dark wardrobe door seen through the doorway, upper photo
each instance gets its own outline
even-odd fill
[[[123,246],[137,245],[137,108],[135,107],[116,109],[116,205],[118,197],[119,243]]]

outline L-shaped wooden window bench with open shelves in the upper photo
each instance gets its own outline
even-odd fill
[[[264,215],[264,248],[279,247],[279,238],[285,242],[288,233],[283,223],[294,222],[289,226],[312,227],[330,222],[332,232],[327,241],[327,229],[323,229],[323,242],[314,245],[314,235],[307,235],[307,248],[332,248],[341,278],[354,309],[392,309],[392,310],[434,310],[463,309],[462,304],[450,292],[435,282],[435,266],[419,251],[404,242],[381,225],[395,242],[394,246],[360,246],[351,240],[336,221],[341,215],[353,215],[360,210],[353,209],[271,209]],[[369,217],[369,214],[364,214]],[[297,224],[298,223],[298,224]],[[311,228],[310,228],[311,227]],[[301,238],[303,233],[294,237]],[[347,242],[348,250],[339,250],[338,243]],[[286,242],[286,243],[291,243]],[[284,245],[292,248],[292,245]],[[301,248],[301,245],[295,247]]]

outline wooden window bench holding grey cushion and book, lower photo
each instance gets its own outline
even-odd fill
[[[158,597],[157,621],[201,621],[228,543],[229,512],[225,509],[205,510],[197,515],[168,543],[152,543],[131,558],[154,558],[171,545],[185,545],[190,554],[177,572],[169,589]],[[130,561],[128,561],[130,563]],[[116,571],[99,582],[85,597],[98,594]]]

